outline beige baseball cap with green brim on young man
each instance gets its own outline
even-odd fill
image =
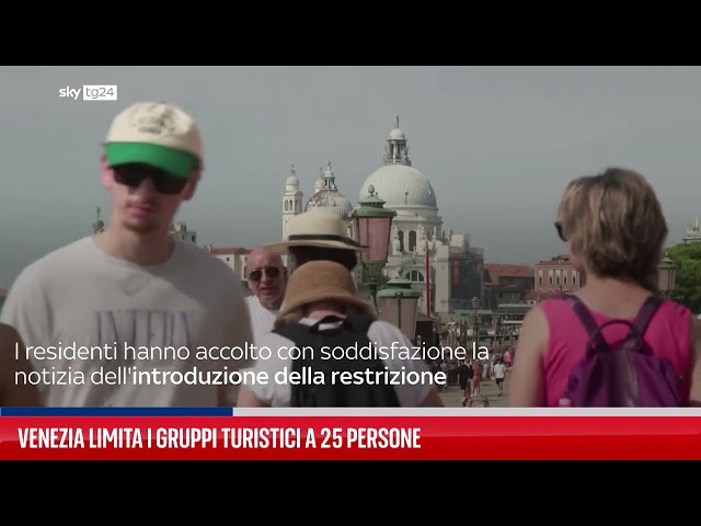
[[[173,104],[138,102],[127,107],[112,122],[104,146],[111,167],[140,162],[188,178],[203,165],[199,129]]]

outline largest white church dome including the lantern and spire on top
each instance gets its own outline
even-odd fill
[[[370,185],[375,186],[376,195],[384,201],[387,208],[404,206],[438,208],[436,193],[430,182],[426,175],[412,167],[406,136],[399,127],[399,115],[394,128],[386,140],[382,165],[360,186],[360,199],[368,196]]]

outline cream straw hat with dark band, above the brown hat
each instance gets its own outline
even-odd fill
[[[348,238],[346,227],[340,217],[330,211],[312,208],[295,216],[288,225],[286,241],[268,244],[265,249],[286,253],[290,247],[320,247],[359,251],[367,249]]]

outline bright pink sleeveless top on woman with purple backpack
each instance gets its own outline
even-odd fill
[[[558,407],[567,387],[570,370],[584,358],[589,336],[574,310],[562,299],[547,299],[540,304],[548,320],[548,348],[543,355],[545,400],[549,407]],[[597,324],[611,318],[589,309]],[[689,399],[691,384],[691,342],[689,327],[691,312],[674,301],[665,300],[650,324],[643,339],[656,355],[664,356],[683,378],[683,400]],[[633,321],[631,318],[629,321]],[[622,341],[630,328],[614,323],[602,331],[611,344]]]

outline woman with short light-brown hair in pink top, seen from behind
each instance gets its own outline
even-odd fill
[[[562,196],[555,228],[586,283],[572,298],[542,301],[524,320],[509,376],[512,407],[568,405],[565,393],[572,388],[571,374],[585,355],[590,356],[589,343],[598,341],[590,333],[599,331],[605,341],[601,348],[616,347],[631,330],[620,320],[633,322],[643,305],[654,305],[648,298],[657,293],[657,265],[667,222],[655,192],[641,174],[612,168],[572,181]],[[589,330],[575,310],[584,310],[585,318],[588,312]],[[647,317],[642,340],[653,359],[665,364],[667,378],[673,379],[653,386],[664,384],[659,388],[676,396],[679,404],[696,403],[701,400],[699,321],[670,300],[658,304],[656,310],[646,307],[644,311],[652,317]],[[606,375],[606,370],[597,373]],[[619,378],[611,385],[627,385],[622,376]],[[650,378],[656,381],[657,377]],[[644,404],[640,390],[625,405]]]

